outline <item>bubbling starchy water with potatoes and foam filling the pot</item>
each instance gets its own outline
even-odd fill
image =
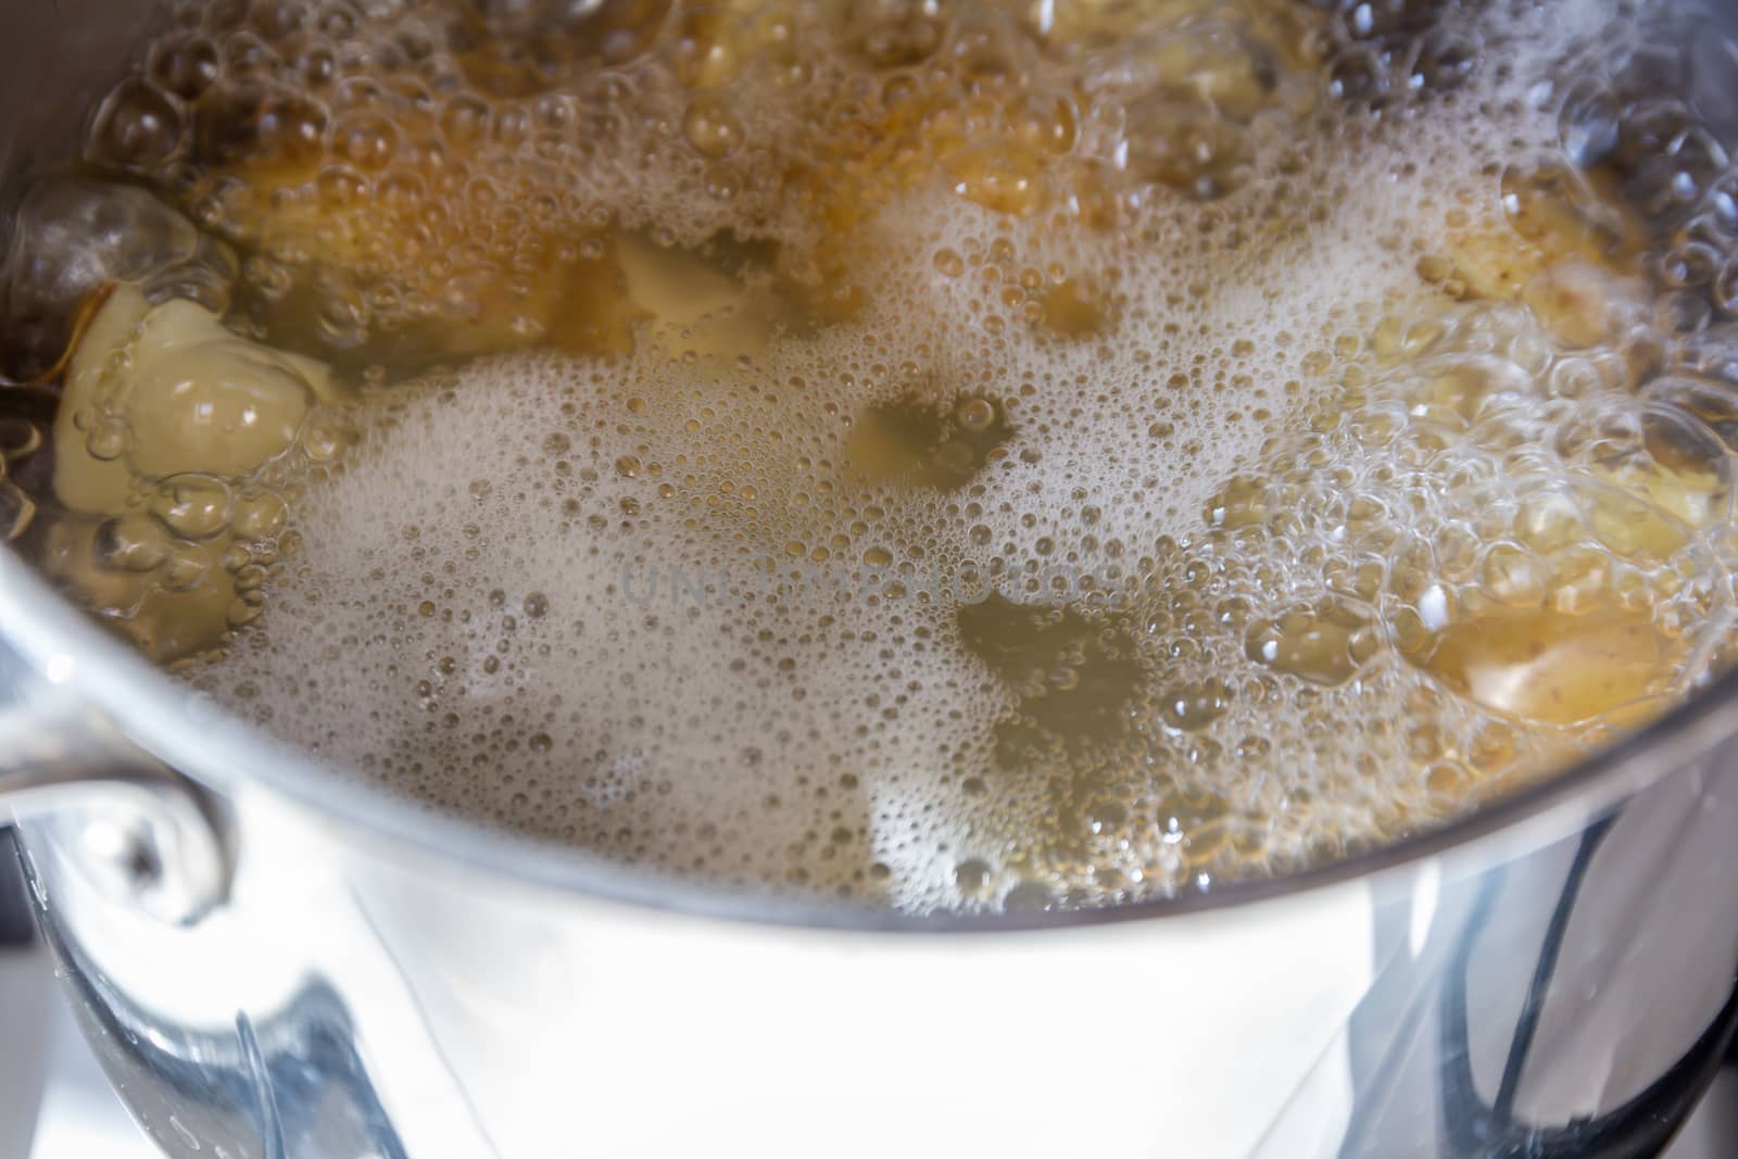
[[[0,514],[278,737],[612,860],[1331,860],[1731,655],[1738,174],[1660,30],[184,3],[21,210]]]

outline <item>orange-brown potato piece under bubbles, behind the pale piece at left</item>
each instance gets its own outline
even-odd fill
[[[431,109],[395,106],[377,120],[401,142],[401,163],[381,174],[316,170],[271,137],[212,158],[238,189],[224,231],[295,271],[292,294],[259,306],[278,341],[398,372],[532,344],[633,349],[631,327],[645,311],[627,299],[615,247],[547,219],[542,202],[556,188],[530,182],[506,205],[485,198],[455,207],[424,186],[462,184],[485,142],[443,136]],[[504,210],[539,224],[511,245],[487,240]],[[471,268],[445,269],[454,254],[471,254]],[[328,332],[323,315],[334,306],[360,311],[370,290],[434,306],[375,315],[365,332]]]

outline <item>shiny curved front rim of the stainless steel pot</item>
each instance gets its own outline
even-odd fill
[[[99,709],[129,742],[219,794],[255,782],[341,822],[353,838],[386,838],[469,869],[596,902],[824,930],[973,933],[1149,921],[1323,890],[1493,843],[1505,834],[1514,838],[1528,825],[1536,829],[1528,832],[1529,843],[1543,844],[1580,831],[1592,817],[1616,808],[1738,732],[1735,669],[1632,733],[1484,808],[1314,869],[1105,909],[918,917],[866,904],[730,888],[669,871],[627,867],[391,794],[216,707],[207,693],[155,667],[73,606],[10,547],[0,549],[0,645],[10,645],[38,676]]]

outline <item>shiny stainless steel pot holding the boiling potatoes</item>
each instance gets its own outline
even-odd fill
[[[3,172],[76,139],[153,17],[0,3]],[[90,1043],[182,1159],[1649,1156],[1738,1020],[1735,735],[1729,678],[1305,878],[907,923],[374,796],[0,551],[0,808]]]

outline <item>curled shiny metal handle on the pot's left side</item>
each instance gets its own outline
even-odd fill
[[[0,822],[40,822],[109,897],[172,924],[222,904],[228,824],[196,784],[132,745],[0,639]]]

